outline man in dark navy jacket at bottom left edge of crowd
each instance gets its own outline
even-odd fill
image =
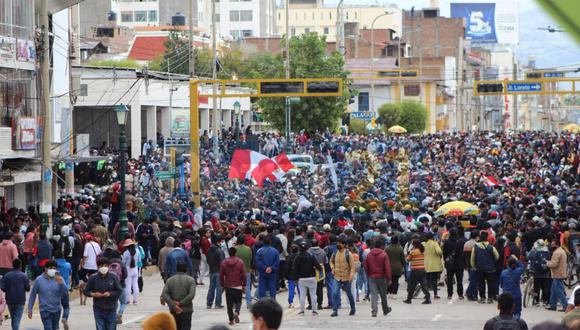
[[[0,289],[6,293],[6,304],[8,311],[10,311],[12,330],[18,330],[26,304],[26,292],[30,291],[30,281],[26,274],[20,271],[22,269],[20,259],[12,261],[12,269],[2,278]]]

